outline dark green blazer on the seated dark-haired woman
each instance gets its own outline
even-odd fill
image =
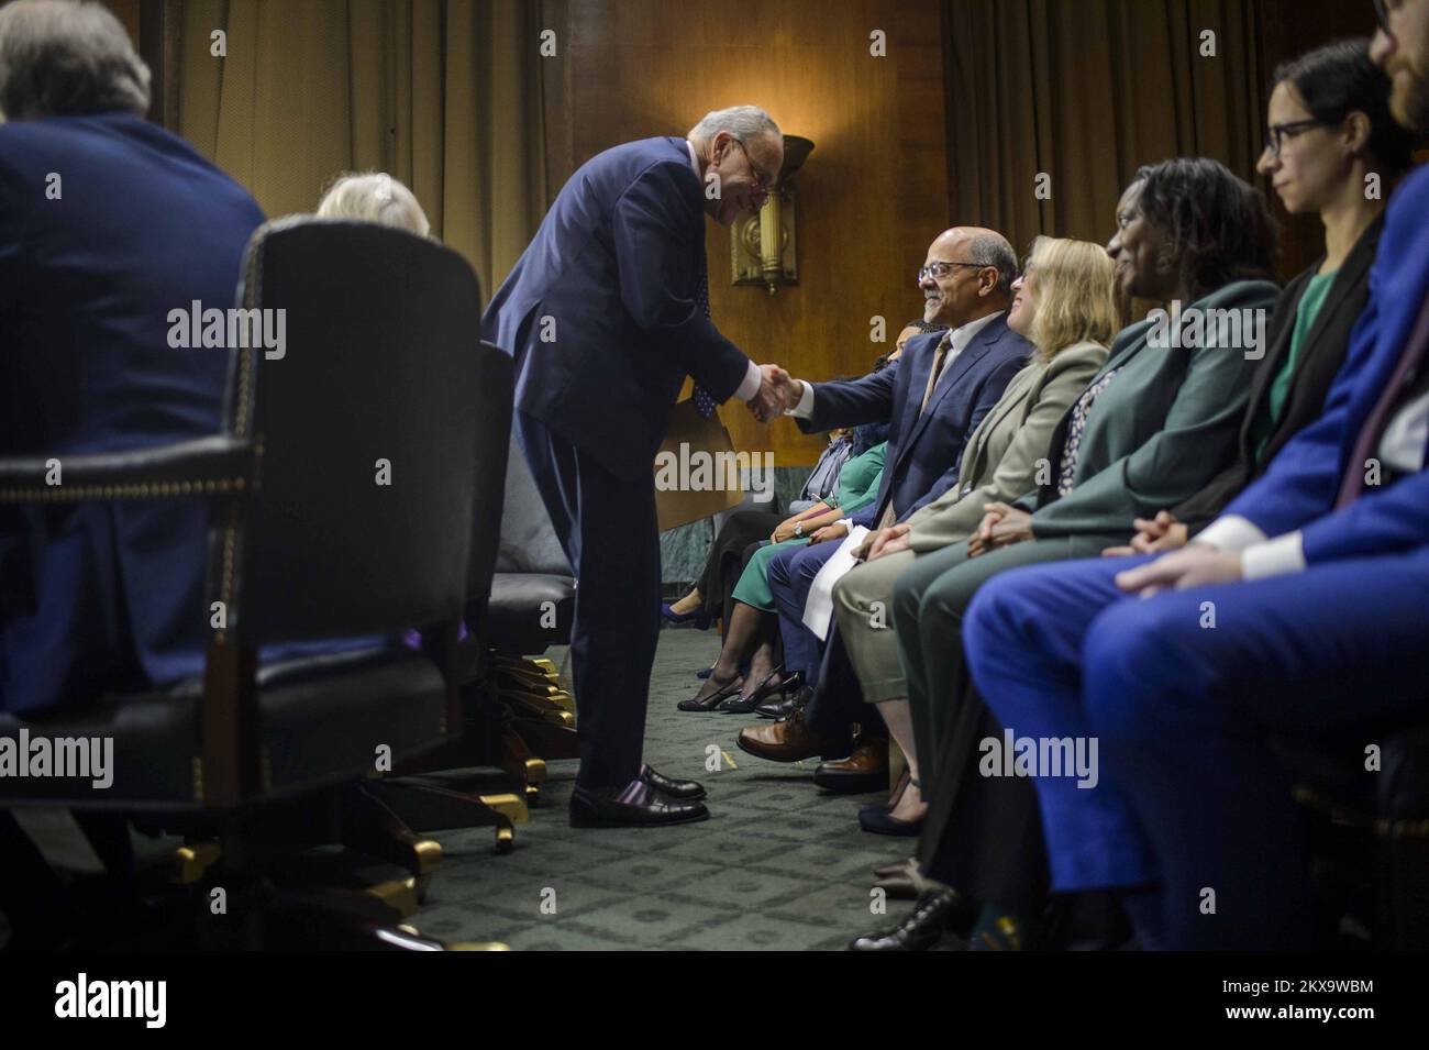
[[[1263,310],[1269,319],[1278,294],[1269,281],[1232,281],[1186,307],[1176,326],[1185,330],[1190,309]],[[1129,537],[1132,519],[1180,504],[1236,454],[1256,364],[1246,360],[1246,347],[1218,344],[1215,326],[1206,326],[1206,339],[1195,349],[1149,347],[1150,329],[1150,321],[1125,329],[1093,379],[1120,369],[1092,406],[1073,489],[1060,499],[1056,481],[1070,410],[1057,426],[1050,483],[1022,501],[1035,509],[1036,539]]]

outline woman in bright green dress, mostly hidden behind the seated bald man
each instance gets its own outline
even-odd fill
[[[822,507],[782,523],[769,541],[750,556],[735,584],[735,609],[725,630],[719,660],[700,691],[679,703],[682,711],[752,711],[766,696],[785,687],[782,667],[775,666],[779,617],[766,576],[769,560],[780,547],[835,540],[830,526],[869,506],[877,496],[886,451],[887,441],[882,441],[845,463],[833,496]],[[745,677],[739,673],[745,660],[749,660],[747,679],[756,683],[747,691]]]

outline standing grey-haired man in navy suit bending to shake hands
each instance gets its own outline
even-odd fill
[[[730,397],[760,420],[783,404],[787,374],[710,321],[704,266],[704,216],[729,226],[757,210],[782,164],[779,127],[753,106],[597,154],[483,319],[516,359],[516,439],[577,579],[574,826],[709,816],[703,787],[642,764],[660,609],[654,454],[686,376],[706,416]]]

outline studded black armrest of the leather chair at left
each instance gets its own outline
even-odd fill
[[[252,461],[252,444],[226,434],[113,453],[0,459],[0,504],[239,493]],[[56,464],[59,484],[51,483]]]

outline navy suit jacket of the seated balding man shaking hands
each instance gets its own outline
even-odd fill
[[[942,337],[940,331],[915,336],[897,361],[862,379],[813,384],[813,414],[797,420],[800,430],[889,424],[879,497],[853,516],[855,524],[875,524],[890,499],[902,521],[957,484],[963,446],[1033,350],[1007,327],[1006,314],[987,321],[945,366],[919,414]]]

